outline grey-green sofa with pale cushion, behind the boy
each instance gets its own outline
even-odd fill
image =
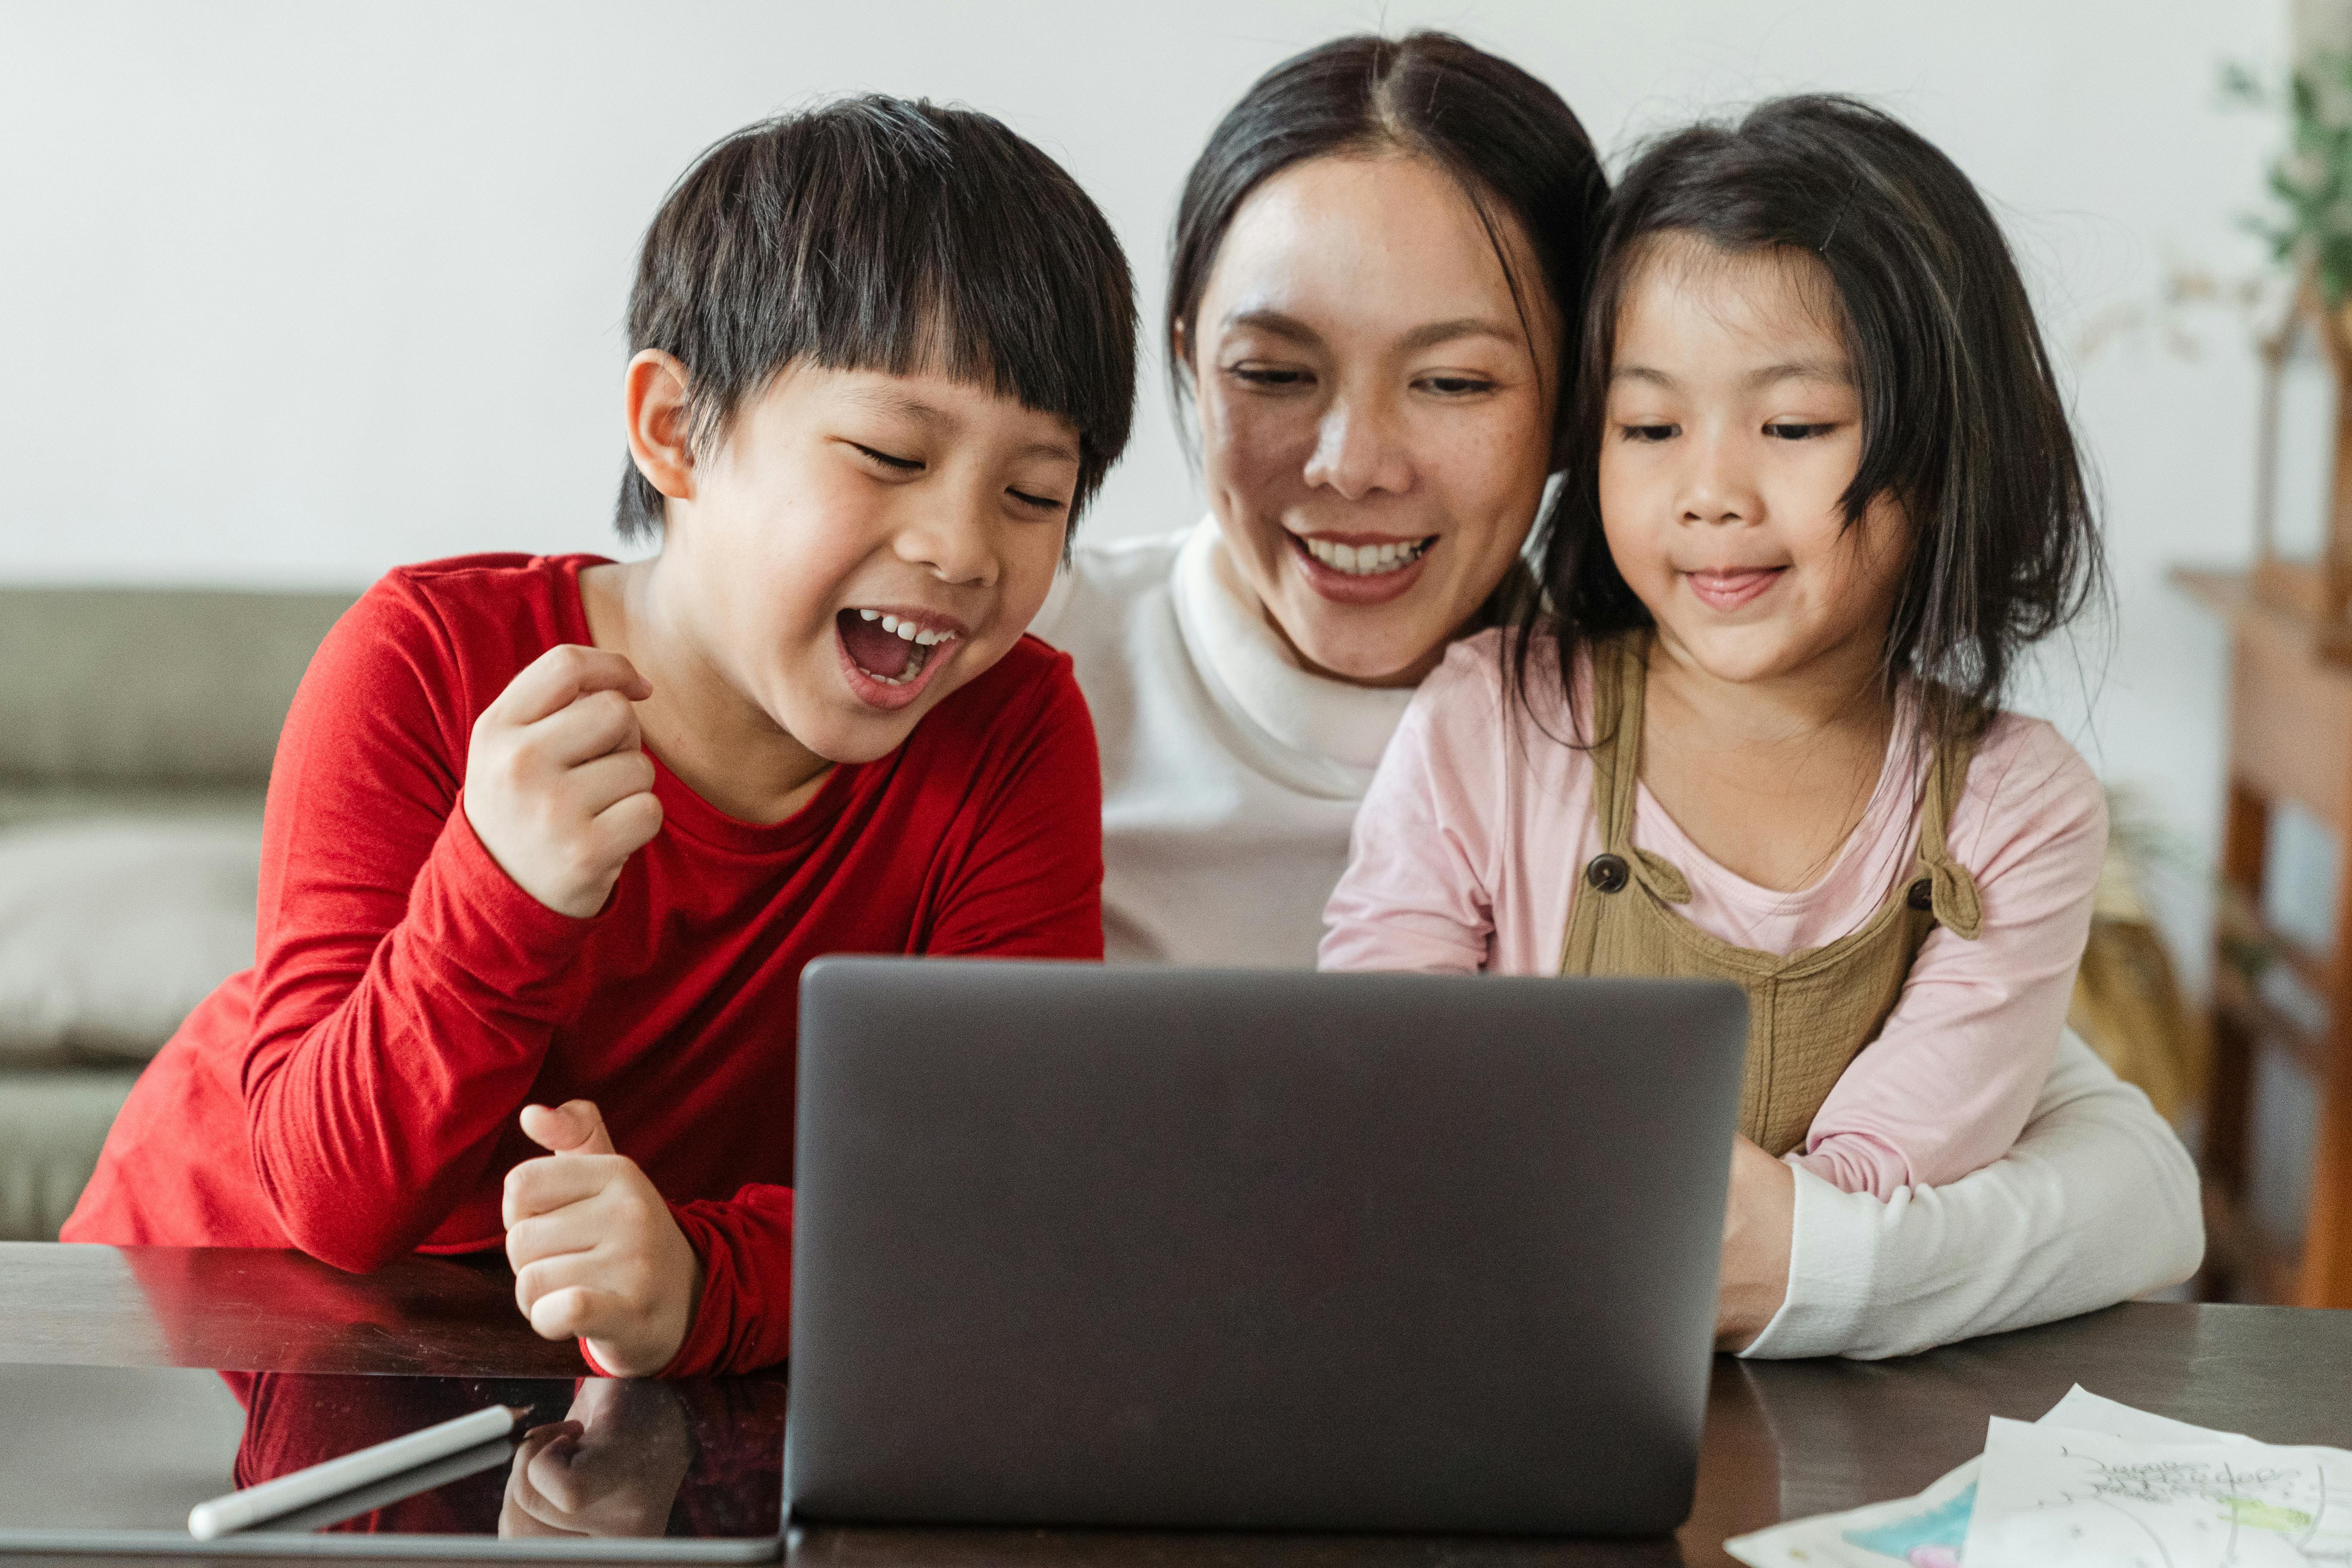
[[[56,1237],[240,919],[252,961],[278,726],[353,597],[0,588],[0,1239]]]

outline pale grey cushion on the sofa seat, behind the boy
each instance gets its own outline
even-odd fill
[[[259,818],[0,830],[0,1063],[151,1058],[254,961]]]

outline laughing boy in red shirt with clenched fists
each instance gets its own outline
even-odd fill
[[[802,964],[1101,957],[1094,731],[1023,639],[1127,442],[1101,212],[985,115],[849,99],[677,183],[628,329],[619,527],[661,552],[412,567],[336,625],[256,964],[71,1241],[369,1269],[503,1220],[534,1328],[602,1368],[764,1366]],[[524,1133],[557,1154],[501,1192]]]

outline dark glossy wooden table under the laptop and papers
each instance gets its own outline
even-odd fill
[[[428,1258],[353,1276],[299,1253],[0,1244],[0,1361],[515,1378],[586,1371],[569,1345],[524,1328],[508,1288],[496,1269]],[[1726,1535],[1915,1493],[1983,1446],[1987,1415],[2032,1420],[2074,1382],[2204,1427],[2352,1448],[2352,1312],[2124,1305],[1903,1361],[1724,1356],[1708,1399],[1698,1505],[1672,1540],[828,1528],[797,1537],[793,1561],[1729,1563]],[[35,1561],[96,1568],[101,1559],[14,1559]]]

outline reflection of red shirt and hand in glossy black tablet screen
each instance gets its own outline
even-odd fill
[[[397,1535],[776,1535],[783,1385],[223,1373],[245,1401],[235,1481],[256,1486],[492,1403],[499,1439],[270,1530]]]

